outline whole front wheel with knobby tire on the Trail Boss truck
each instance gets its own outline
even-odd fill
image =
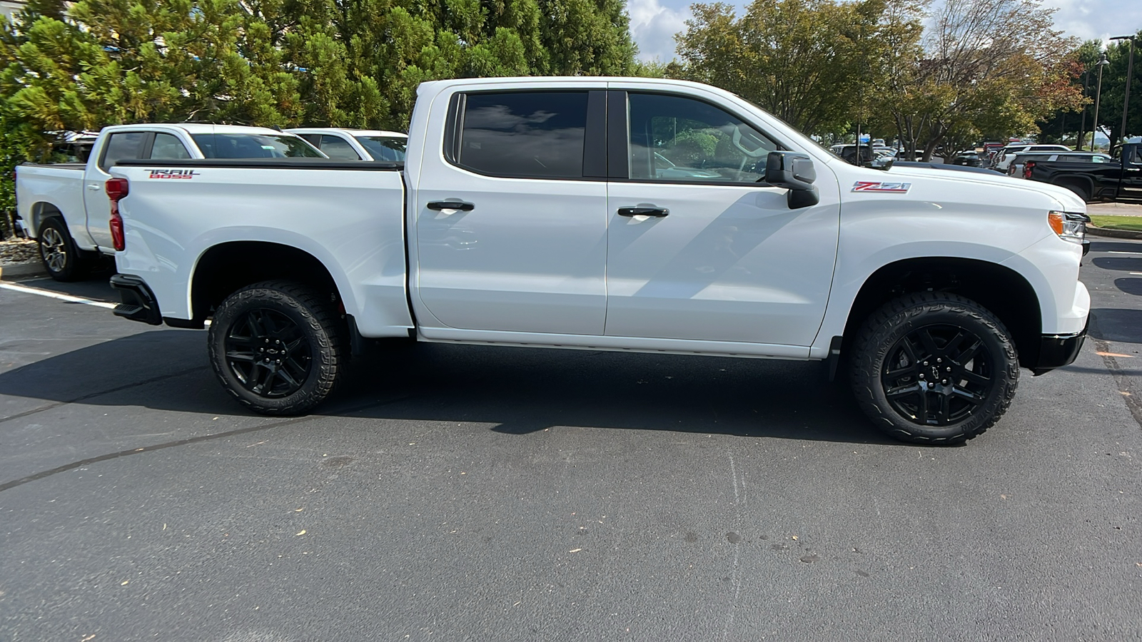
[[[1019,358],[1004,324],[975,302],[917,292],[864,322],[851,366],[861,409],[885,433],[917,443],[960,443],[1011,406]]]

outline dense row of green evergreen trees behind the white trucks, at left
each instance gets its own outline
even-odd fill
[[[130,122],[403,129],[426,80],[634,55],[621,0],[30,0],[0,29],[0,160]]]

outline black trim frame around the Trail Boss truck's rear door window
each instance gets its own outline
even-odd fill
[[[464,117],[468,106],[468,96],[476,95],[505,95],[505,94],[587,94],[587,119],[584,128],[582,141],[582,176],[516,176],[513,174],[499,174],[467,167],[459,162],[460,145],[464,138]],[[576,88],[576,89],[485,89],[474,91],[457,91],[452,94],[448,103],[448,115],[444,121],[444,145],[443,154],[448,164],[469,171],[478,176],[491,178],[512,178],[515,180],[586,180],[597,183],[606,180],[606,89]]]

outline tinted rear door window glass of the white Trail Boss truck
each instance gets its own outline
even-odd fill
[[[469,94],[455,163],[510,178],[582,178],[587,91]]]

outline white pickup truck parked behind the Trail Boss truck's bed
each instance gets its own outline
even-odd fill
[[[16,225],[39,240],[53,279],[70,281],[100,255],[114,255],[108,170],[126,159],[273,158],[324,155],[301,138],[233,125],[118,125],[99,131],[86,163],[16,168]],[[179,177],[171,175],[171,178]]]

